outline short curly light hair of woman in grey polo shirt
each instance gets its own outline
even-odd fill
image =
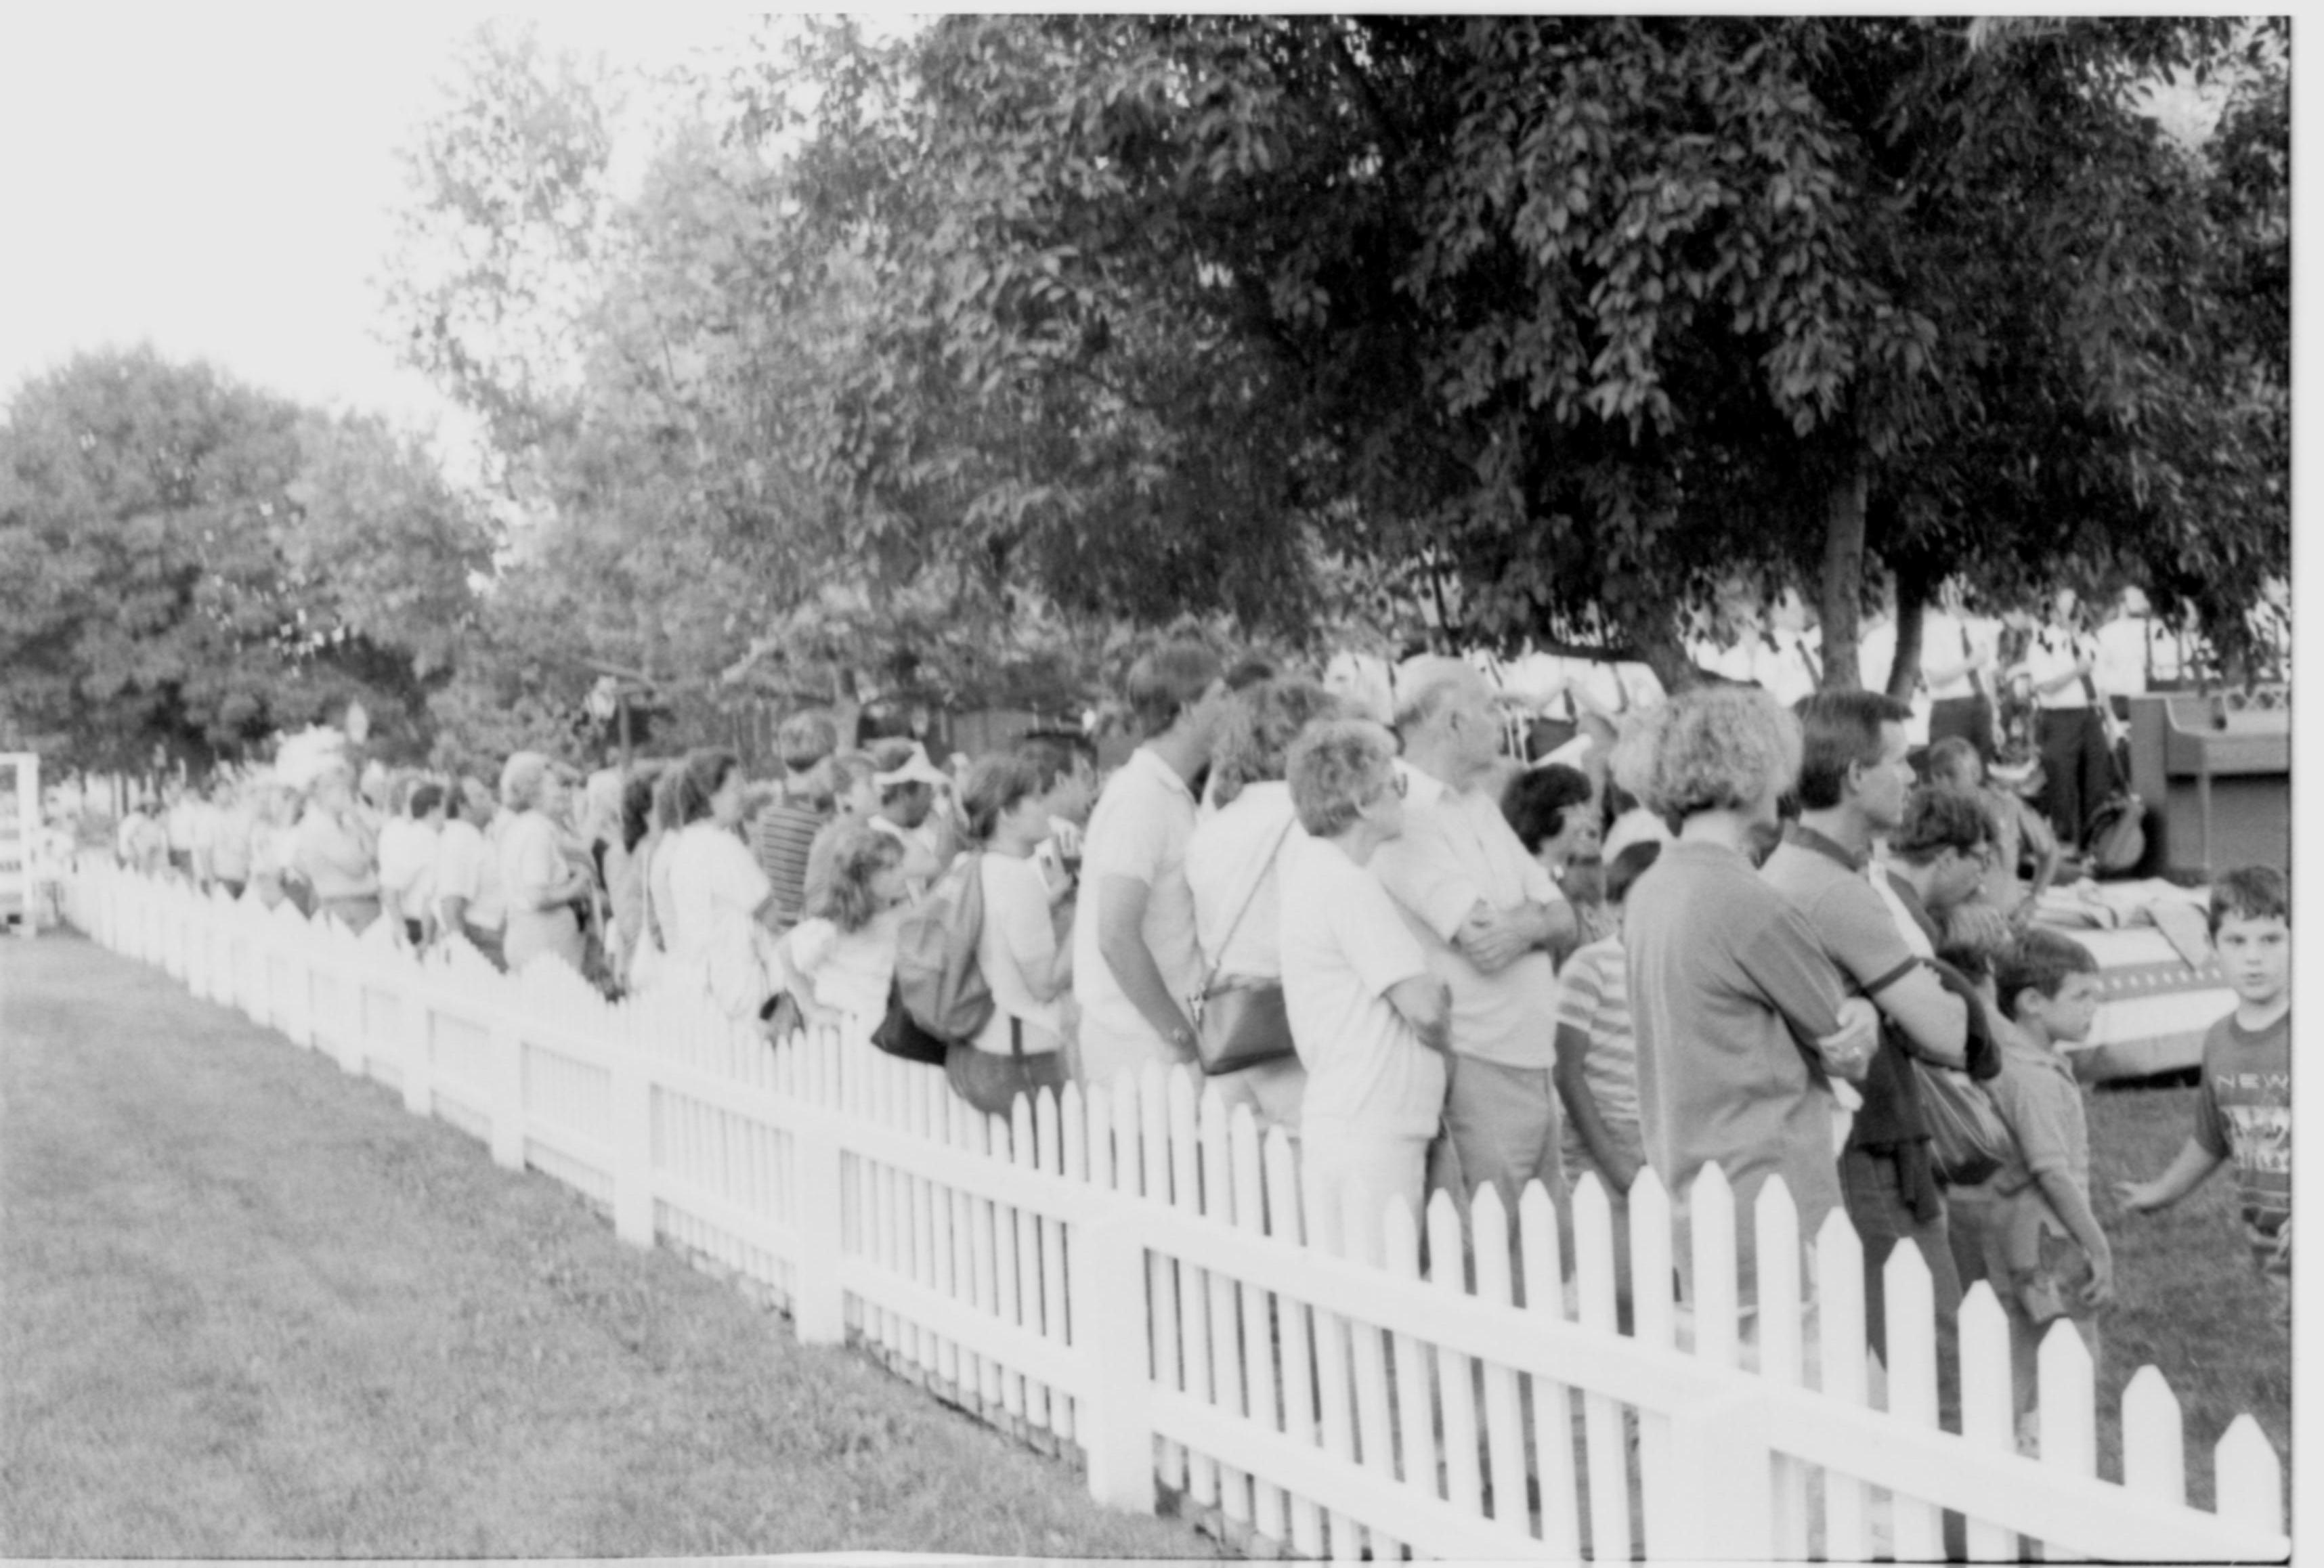
[[[1799,718],[1757,685],[1680,692],[1634,713],[1613,778],[1662,818],[1741,811],[1799,778]]]

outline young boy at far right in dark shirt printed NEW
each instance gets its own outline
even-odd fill
[[[2152,1182],[2122,1182],[2124,1208],[2171,1208],[2229,1159],[2243,1229],[2291,1333],[2291,885],[2273,866],[2229,871],[2210,890],[2210,941],[2236,1010],[2203,1036],[2194,1136]]]

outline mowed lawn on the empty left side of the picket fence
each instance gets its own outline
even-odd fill
[[[0,1556],[1206,1556],[379,1085],[0,943]]]

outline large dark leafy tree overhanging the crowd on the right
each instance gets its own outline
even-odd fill
[[[1318,553],[1452,634],[1666,678],[1741,569],[2280,569],[2205,304],[2208,181],[2136,112],[2224,21],[948,19],[825,33],[739,135],[813,128],[871,269],[809,434],[867,541],[1076,609],[1315,613]],[[811,95],[811,107],[792,109]],[[786,95],[788,93],[788,95]],[[2231,527],[2219,527],[2222,516]],[[2210,595],[2210,597],[2205,597]]]

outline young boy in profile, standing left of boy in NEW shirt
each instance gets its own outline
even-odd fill
[[[2115,1296],[2115,1254],[2089,1208],[2082,1089],[2059,1052],[2059,1041],[2089,1036],[2099,959],[2082,943],[2033,927],[1994,957],[1992,971],[2001,1076],[1985,1092],[2015,1148],[1989,1180],[1952,1189],[1950,1217],[1961,1287],[1985,1280],[2010,1319],[2010,1384],[2024,1417],[2038,1391],[2043,1333],[2071,1317],[2096,1361],[2094,1312]]]

